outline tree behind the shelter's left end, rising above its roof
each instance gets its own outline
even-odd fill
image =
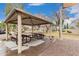
[[[7,16],[9,14],[9,12],[13,8],[23,9],[24,8],[24,4],[22,4],[22,3],[8,3],[8,4],[6,4],[5,16]],[[15,29],[16,28],[16,25],[15,24],[9,24],[8,26],[9,26],[9,30],[12,30],[12,29]]]

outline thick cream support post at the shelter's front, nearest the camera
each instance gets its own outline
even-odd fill
[[[21,54],[22,52],[22,31],[21,31],[21,28],[22,28],[22,21],[21,21],[21,15],[18,14],[18,54]]]

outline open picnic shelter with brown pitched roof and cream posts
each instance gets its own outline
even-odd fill
[[[8,16],[5,19],[6,23],[6,40],[8,40],[8,24],[17,24],[18,25],[18,54],[22,52],[22,25],[44,25],[44,24],[52,24],[50,21],[45,20],[44,18],[36,17],[30,13],[26,13],[25,11],[15,8],[11,10]]]

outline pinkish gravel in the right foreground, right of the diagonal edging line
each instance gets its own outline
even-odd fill
[[[43,56],[78,56],[79,40],[57,40],[40,55]]]

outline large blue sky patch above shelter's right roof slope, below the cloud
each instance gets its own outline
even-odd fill
[[[32,6],[25,4],[25,10],[33,14],[43,14],[46,16],[52,16],[56,11],[58,11],[60,4],[42,4],[39,6]]]

